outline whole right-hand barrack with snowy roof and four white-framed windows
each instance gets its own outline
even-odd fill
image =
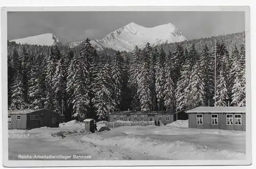
[[[237,106],[200,106],[187,110],[188,127],[245,131],[246,108]]]

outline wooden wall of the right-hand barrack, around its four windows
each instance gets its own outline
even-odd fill
[[[228,114],[231,114],[231,113],[228,113]],[[245,131],[245,126],[246,126],[245,114],[242,114],[242,125],[234,124],[234,115],[237,115],[234,113],[232,114],[233,115],[233,125],[226,124],[226,115],[227,115],[226,113],[218,114],[218,124],[217,125],[211,124],[211,115],[212,114],[204,113],[202,115],[203,115],[203,124],[197,124],[197,114],[196,113],[188,114],[188,127],[189,128],[201,128],[201,129],[223,129],[223,130]]]

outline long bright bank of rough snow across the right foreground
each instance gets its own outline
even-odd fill
[[[165,159],[244,159],[244,153],[228,150],[215,150],[207,146],[193,143],[166,142],[150,137],[141,138],[136,135],[126,135],[122,132],[108,134],[90,134],[81,140],[101,146],[119,146],[121,149],[129,149],[138,153]]]

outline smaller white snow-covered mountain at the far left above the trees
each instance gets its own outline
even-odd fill
[[[14,41],[20,44],[47,45],[47,46],[51,46],[54,43],[59,42],[58,38],[53,34],[41,34],[41,35],[36,35],[36,36],[31,36],[31,37],[26,37],[21,39],[10,40],[10,42],[11,41]]]

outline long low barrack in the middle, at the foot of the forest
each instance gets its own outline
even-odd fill
[[[155,121],[159,120],[163,124],[173,123],[176,112],[172,110],[168,111],[114,111],[109,114],[109,121],[114,122],[117,120],[121,121]]]

